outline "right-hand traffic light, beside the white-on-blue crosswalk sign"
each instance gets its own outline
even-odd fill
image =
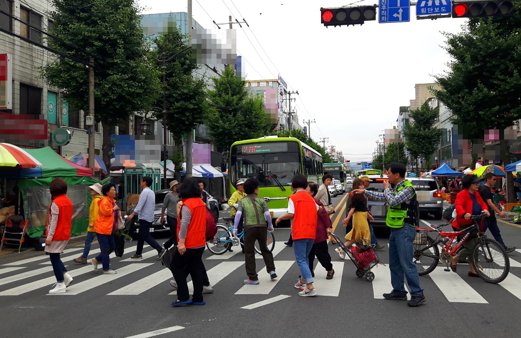
[[[453,18],[478,18],[478,17],[498,17],[511,15],[514,12],[514,5],[510,1],[488,1],[473,3],[453,3]]]

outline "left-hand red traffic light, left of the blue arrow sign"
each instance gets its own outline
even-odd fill
[[[376,5],[338,8],[320,8],[320,22],[328,26],[349,26],[376,20]]]

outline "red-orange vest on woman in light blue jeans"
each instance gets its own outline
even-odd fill
[[[315,239],[317,235],[317,207],[315,199],[304,192],[291,195],[295,206],[291,234],[293,240]]]

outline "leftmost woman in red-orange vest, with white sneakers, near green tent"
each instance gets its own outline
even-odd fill
[[[52,202],[49,206],[47,226],[45,228],[45,253],[51,258],[56,284],[49,293],[65,293],[65,289],[72,283],[72,277],[67,273],[60,253],[64,251],[70,238],[72,226],[73,205],[67,193],[67,183],[56,178],[49,184]]]

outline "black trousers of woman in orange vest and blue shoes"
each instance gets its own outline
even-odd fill
[[[187,249],[181,255],[178,251],[172,256],[172,274],[177,283],[177,299],[184,302],[190,299],[188,292],[187,274],[188,271],[192,277],[194,284],[194,293],[192,299],[194,302],[203,301],[203,279],[204,279],[204,264],[203,264],[204,247],[198,249]]]

